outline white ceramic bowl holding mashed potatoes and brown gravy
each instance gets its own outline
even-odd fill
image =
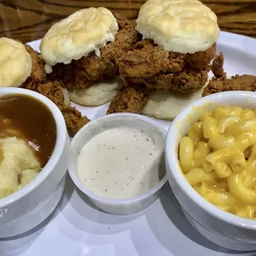
[[[70,144],[64,118],[47,97],[22,88],[0,88],[0,97],[8,94],[35,97],[49,107],[55,118],[57,138],[53,154],[36,178],[19,191],[0,199],[0,238],[31,230],[54,211],[64,191]]]

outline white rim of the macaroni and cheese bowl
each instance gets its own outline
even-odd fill
[[[189,104],[183,111],[181,111],[178,116],[174,119],[172,125],[168,129],[165,145],[165,157],[166,164],[168,164],[167,172],[172,173],[172,177],[178,184],[178,187],[183,191],[184,194],[202,211],[206,211],[209,215],[214,216],[216,219],[222,220],[230,225],[236,225],[241,228],[246,228],[249,230],[256,230],[256,220],[246,219],[243,217],[235,216],[229,212],[222,211],[217,206],[212,205],[209,201],[206,201],[204,197],[201,197],[187,182],[186,178],[180,170],[178,164],[178,157],[175,152],[173,141],[177,141],[177,123],[186,119],[186,117],[192,113],[193,107],[201,107],[207,103],[215,103],[218,106],[218,100],[220,98],[237,98],[237,97],[254,97],[256,101],[256,92],[246,92],[246,91],[233,91],[233,92],[217,92],[206,97],[201,97],[195,102]],[[256,104],[255,104],[256,105]],[[221,105],[220,105],[221,106]],[[239,106],[239,104],[234,104],[233,106]],[[256,106],[255,106],[256,109]],[[198,117],[199,118],[199,117]]]

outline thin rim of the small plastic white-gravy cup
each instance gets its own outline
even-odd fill
[[[93,127],[95,122],[111,121],[113,118],[116,118],[116,117],[123,117],[125,119],[126,118],[140,119],[140,121],[145,121],[149,125],[157,128],[157,130],[159,130],[159,132],[162,135],[164,135],[164,138],[166,136],[166,130],[164,130],[164,127],[161,124],[159,124],[157,121],[154,121],[154,119],[148,116],[143,116],[143,115],[134,114],[134,113],[115,113],[115,114],[109,114],[109,115],[97,118],[95,120],[92,120],[88,122],[88,124],[83,126],[83,128],[79,130],[78,133],[73,137],[73,140],[71,141],[71,145],[70,145],[70,149],[71,149],[70,151],[73,152],[72,149],[74,145],[76,145],[77,141],[80,140],[83,134],[86,133],[88,129],[90,129],[90,126]],[[132,197],[127,199],[112,199],[112,198],[98,196],[97,194],[88,190],[88,188],[85,187],[83,183],[80,182],[77,175],[77,170],[75,168],[72,168],[72,165],[73,165],[73,162],[69,161],[69,175],[72,178],[73,183],[79,188],[79,190],[83,192],[85,195],[87,195],[88,197],[91,197],[94,201],[100,201],[102,204],[108,204],[111,206],[128,205],[128,204],[136,203],[138,201],[142,201],[145,198],[151,197],[155,192],[158,192],[164,186],[164,184],[167,183],[168,181],[167,172],[165,172],[164,178],[162,178],[161,181],[157,185],[152,187],[148,192],[145,192],[138,197]]]

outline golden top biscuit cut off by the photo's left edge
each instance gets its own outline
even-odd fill
[[[0,38],[0,88],[20,87],[30,77],[31,55],[17,40]]]

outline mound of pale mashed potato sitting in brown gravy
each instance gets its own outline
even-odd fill
[[[24,140],[0,140],[0,198],[26,186],[39,172],[40,163]]]

